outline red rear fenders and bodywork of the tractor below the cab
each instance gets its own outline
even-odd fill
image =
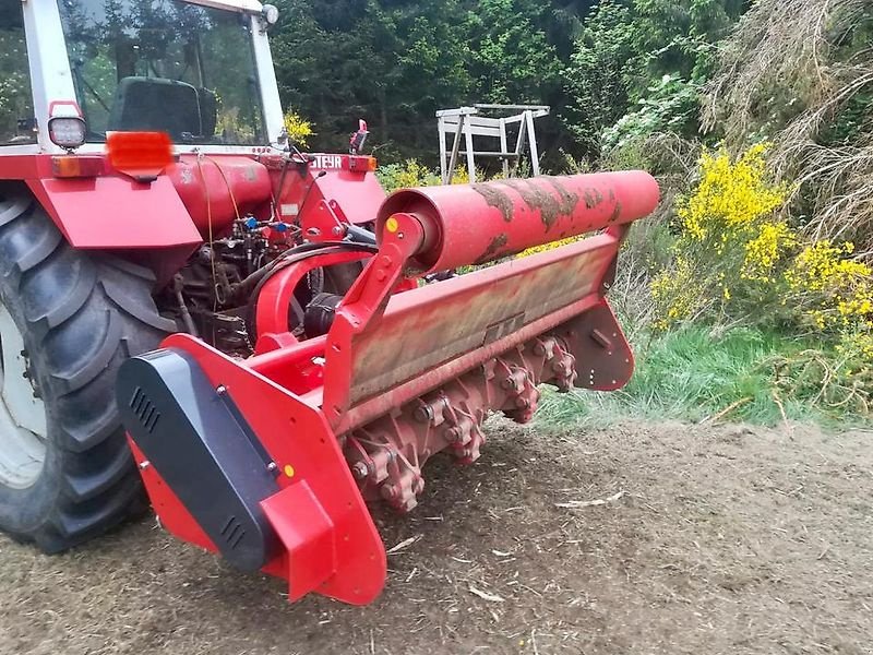
[[[120,139],[136,136],[162,138],[123,133]],[[128,155],[136,152],[128,150]],[[164,272],[162,278],[176,273],[205,237],[223,236],[236,218],[252,214],[298,222],[312,231],[311,240],[336,240],[334,228],[342,233],[344,223],[374,221],[385,199],[373,172],[348,169],[344,155],[315,155],[310,165],[276,155],[180,155],[147,170],[131,169],[129,156],[116,162],[120,168],[112,167],[111,156],[60,158],[87,159],[88,174],[59,177],[59,157],[52,155],[2,155],[0,180],[26,183],[74,248],[146,251],[148,263]],[[334,159],[342,166],[318,167]],[[330,216],[320,215],[322,205],[330,207]],[[285,214],[284,207],[297,211]]]

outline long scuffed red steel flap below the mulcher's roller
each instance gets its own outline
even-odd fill
[[[337,326],[324,390],[334,429],[366,425],[595,307],[623,231],[395,296],[370,330]]]

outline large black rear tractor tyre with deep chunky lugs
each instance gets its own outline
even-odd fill
[[[45,413],[38,473],[22,483],[0,471],[0,529],[14,539],[60,552],[147,509],[115,379],[124,359],[176,331],[154,284],[148,269],[73,249],[23,186],[0,184],[0,311],[17,329],[23,377]],[[0,443],[11,438],[0,432]]]

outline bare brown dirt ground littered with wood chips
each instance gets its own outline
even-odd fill
[[[0,537],[0,653],[873,653],[873,434],[501,422],[427,473],[363,609],[289,605],[153,519],[58,558]]]

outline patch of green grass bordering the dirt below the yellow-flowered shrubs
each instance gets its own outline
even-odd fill
[[[774,371],[768,362],[812,346],[812,342],[753,329],[717,334],[689,326],[636,344],[636,372],[619,392],[547,391],[538,420],[545,425],[608,426],[621,418],[701,421],[723,413],[719,417],[723,420],[776,425],[782,415],[774,397]],[[827,428],[869,425],[860,416],[837,416],[813,406],[810,398],[776,397],[789,420]]]

